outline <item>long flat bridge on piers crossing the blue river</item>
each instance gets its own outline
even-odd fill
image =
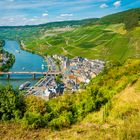
[[[33,75],[33,78],[36,77],[36,75],[59,75],[61,74],[60,71],[49,71],[49,72],[0,72],[1,75],[7,75],[7,78],[10,79],[10,75]]]

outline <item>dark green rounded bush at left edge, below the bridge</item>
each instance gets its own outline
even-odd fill
[[[0,120],[19,119],[25,111],[23,97],[11,86],[0,87]]]

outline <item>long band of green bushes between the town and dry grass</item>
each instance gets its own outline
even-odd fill
[[[110,62],[111,63],[111,62]],[[11,87],[0,88],[0,119],[19,120],[23,127],[61,129],[81,121],[88,113],[105,105],[103,122],[109,115],[112,97],[139,78],[140,60],[130,59],[124,64],[112,62],[98,77],[91,80],[82,92],[45,101],[36,96],[21,98]],[[8,94],[7,94],[8,93]],[[121,114],[127,116],[129,110]]]

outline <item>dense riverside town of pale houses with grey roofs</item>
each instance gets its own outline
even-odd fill
[[[89,60],[82,57],[69,59],[61,55],[48,56],[47,62],[49,71],[61,71],[61,74],[45,76],[27,90],[27,95],[33,94],[50,99],[66,91],[74,93],[96,77],[105,65],[105,62],[101,60]]]

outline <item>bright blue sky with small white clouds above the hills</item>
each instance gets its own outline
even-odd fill
[[[99,18],[139,7],[140,0],[0,0],[0,26]]]

